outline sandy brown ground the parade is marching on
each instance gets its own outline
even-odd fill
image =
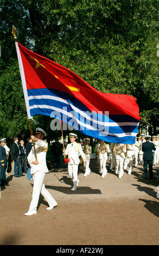
[[[91,173],[83,176],[79,168],[78,189],[70,191],[72,181],[67,166],[45,176],[45,186],[58,206],[46,210],[40,196],[38,212],[25,216],[32,199],[33,181],[27,175],[7,174],[8,187],[1,187],[1,245],[158,245],[159,164],[154,179],[143,180],[141,164],[121,179],[109,170],[99,174],[96,160]],[[157,187],[158,186],[158,187]],[[158,192],[158,198],[157,198]]]

